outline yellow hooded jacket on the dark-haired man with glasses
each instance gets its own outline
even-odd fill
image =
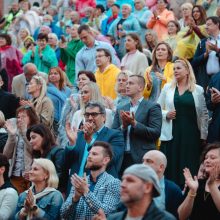
[[[110,64],[104,72],[99,69],[95,72],[96,83],[100,89],[102,96],[108,96],[112,99],[117,97],[115,84],[118,74],[121,70],[114,64]]]

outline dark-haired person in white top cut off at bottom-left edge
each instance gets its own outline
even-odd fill
[[[0,219],[13,219],[18,201],[8,177],[9,166],[7,157],[0,153]]]

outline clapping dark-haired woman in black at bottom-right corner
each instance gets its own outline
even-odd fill
[[[179,218],[220,219],[220,144],[210,144],[202,156],[204,179],[192,177],[188,168],[183,175],[188,193],[178,208]]]

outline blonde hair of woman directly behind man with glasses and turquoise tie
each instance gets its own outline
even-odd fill
[[[84,86],[88,86],[89,87],[89,90],[90,90],[90,100],[89,101],[100,102],[101,104],[104,105],[104,100],[102,98],[102,95],[101,95],[101,92],[99,90],[99,87],[97,86],[96,83],[88,82]],[[82,99],[80,99],[80,108],[82,109],[82,113],[85,112],[85,105],[86,104],[84,104],[82,102]]]

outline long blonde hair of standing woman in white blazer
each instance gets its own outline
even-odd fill
[[[189,75],[187,77],[187,89],[190,91],[190,92],[193,92],[196,88],[196,78],[195,78],[195,75],[194,75],[194,72],[193,72],[193,68],[191,66],[191,64],[189,63],[188,60],[186,59],[178,59],[174,62],[175,63],[182,63],[183,66],[186,68],[186,70],[188,71]],[[175,77],[173,78],[173,81],[171,82],[171,85],[172,87],[176,87],[177,85],[177,81],[175,79]]]

